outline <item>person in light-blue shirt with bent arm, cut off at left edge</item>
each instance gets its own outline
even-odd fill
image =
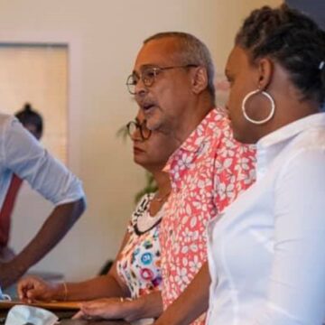
[[[9,261],[0,262],[0,283],[4,288],[64,237],[85,209],[85,194],[80,181],[14,116],[0,114],[0,153],[0,210],[14,174],[55,206],[29,244]]]

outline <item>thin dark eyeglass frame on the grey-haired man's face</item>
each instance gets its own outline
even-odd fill
[[[153,76],[148,78],[148,79],[144,79],[143,76],[144,76],[144,73],[141,73],[140,76],[136,76],[135,72],[134,73],[131,73],[127,79],[126,79],[126,87],[127,87],[127,90],[128,92],[131,94],[131,95],[135,95],[135,91],[132,90],[132,87],[135,88],[137,82],[141,79],[142,82],[144,83],[144,86],[147,87],[147,88],[150,88],[153,86],[154,82],[155,82],[155,79],[156,77],[161,73],[163,72],[163,70],[172,70],[172,69],[188,69],[188,68],[198,68],[199,65],[198,64],[186,64],[186,65],[181,65],[181,66],[170,66],[170,67],[147,67],[144,69],[145,70],[150,70],[151,72],[153,72]],[[135,76],[137,78],[137,81],[135,83]]]

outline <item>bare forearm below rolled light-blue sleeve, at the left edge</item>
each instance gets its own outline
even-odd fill
[[[57,206],[32,241],[13,260],[0,265],[0,283],[6,287],[51,251],[85,209],[83,199]]]

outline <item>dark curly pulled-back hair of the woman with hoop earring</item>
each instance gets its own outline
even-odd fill
[[[291,75],[302,100],[325,100],[325,32],[301,12],[281,5],[253,11],[237,33],[236,45],[251,61],[269,57]]]

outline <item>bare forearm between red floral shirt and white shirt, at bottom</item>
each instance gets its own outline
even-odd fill
[[[196,320],[209,306],[209,266],[206,262],[189,286],[181,293],[155,325],[187,325]]]

